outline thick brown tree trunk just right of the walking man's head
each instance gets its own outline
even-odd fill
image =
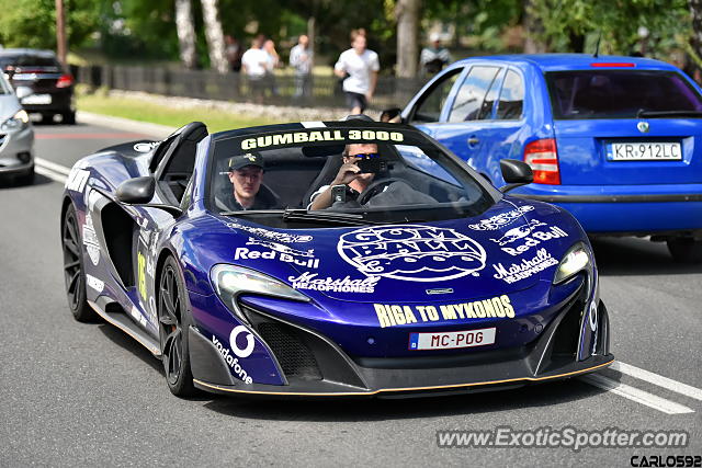
[[[395,16],[397,18],[397,69],[401,78],[417,76],[419,50],[417,33],[419,31],[419,9],[421,0],[397,0]]]

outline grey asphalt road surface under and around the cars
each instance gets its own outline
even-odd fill
[[[36,133],[37,156],[68,168],[138,138],[90,125]],[[599,373],[599,386],[571,379],[410,400],[181,400],[135,341],[73,321],[61,277],[61,191],[46,176],[0,184],[0,466],[630,466],[632,456],[702,455],[702,267],[675,264],[665,246],[596,243],[612,350],[624,363]],[[688,431],[690,441],[669,449],[438,447],[437,431],[505,425]]]

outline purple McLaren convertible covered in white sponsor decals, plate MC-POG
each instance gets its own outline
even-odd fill
[[[612,363],[578,221],[407,125],[306,122],[105,148],[60,214],[68,304],[181,397],[407,397]]]

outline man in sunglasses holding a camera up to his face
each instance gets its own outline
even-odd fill
[[[337,176],[329,185],[322,185],[319,190],[312,194],[309,198],[312,203],[307,209],[325,209],[331,206],[331,192],[335,186],[346,190],[346,199],[355,201],[359,195],[373,182],[375,174],[360,173],[361,168],[356,164],[366,155],[377,155],[377,145],[375,144],[352,144],[347,145],[343,149],[343,164],[339,168]]]

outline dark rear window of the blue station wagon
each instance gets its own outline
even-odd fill
[[[636,118],[639,111],[702,111],[700,94],[675,71],[546,72],[557,121]]]

